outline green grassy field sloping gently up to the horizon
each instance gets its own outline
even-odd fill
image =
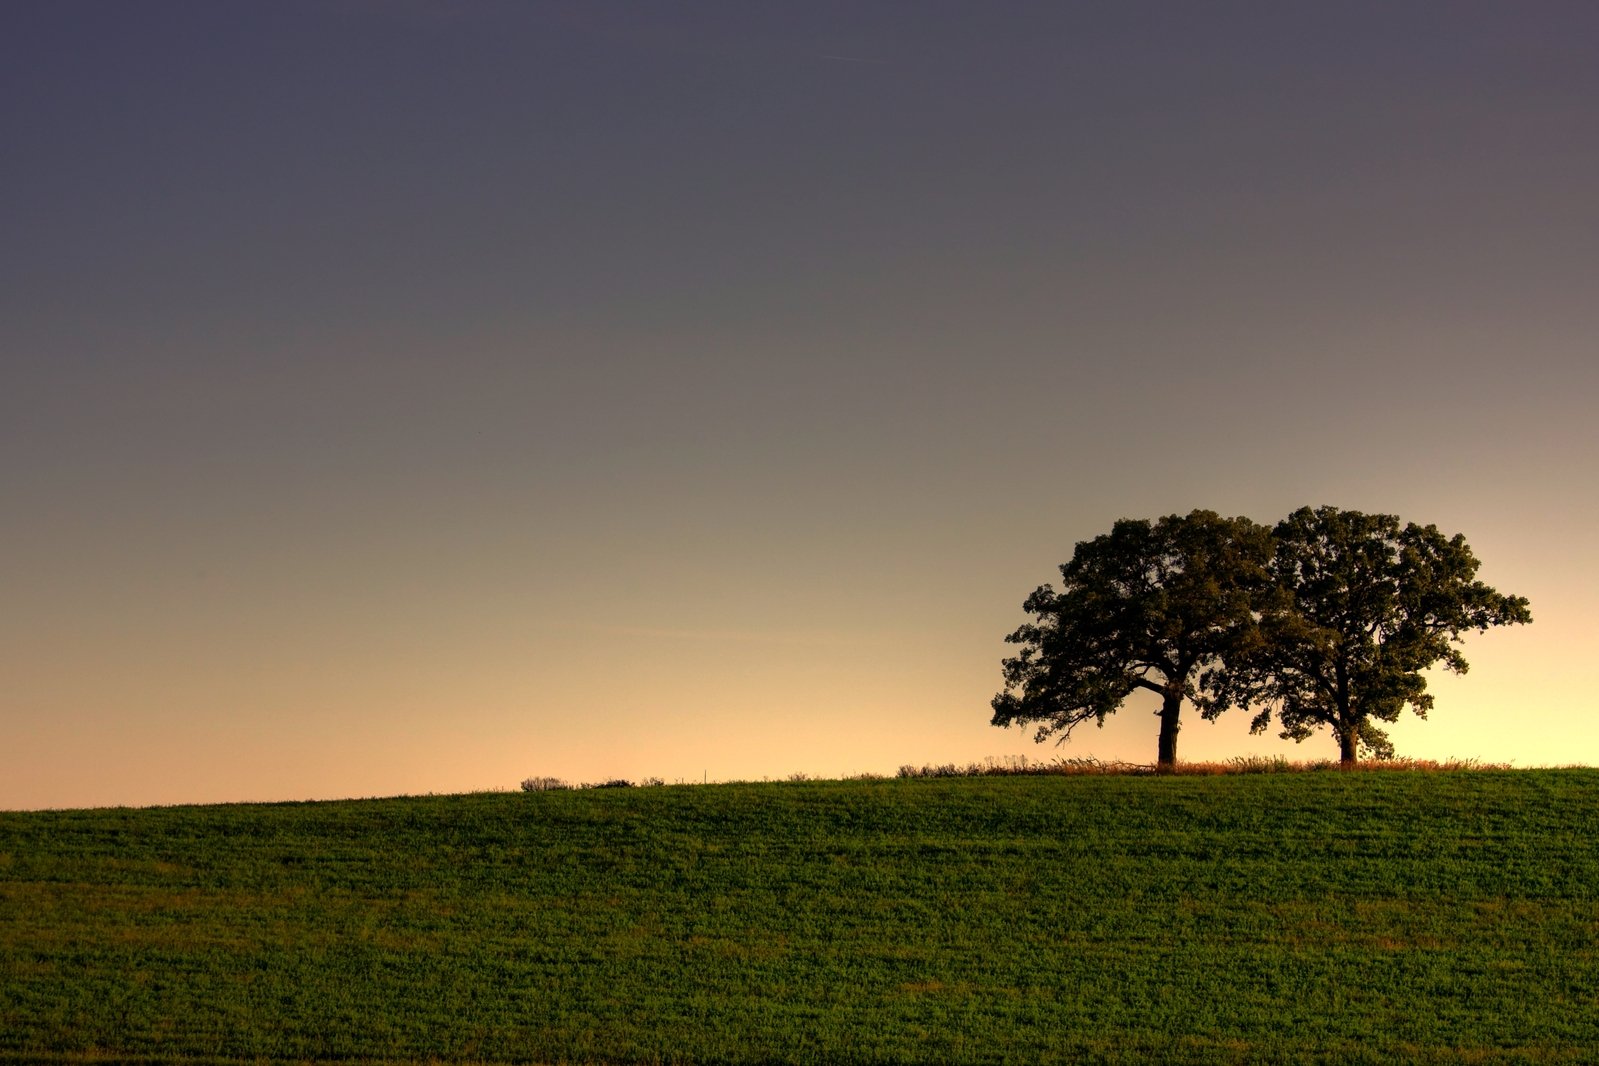
[[[0,813],[0,1058],[1593,1061],[1599,770]]]

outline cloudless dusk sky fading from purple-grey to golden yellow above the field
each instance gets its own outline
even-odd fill
[[[16,0],[0,144],[0,807],[1151,762],[1022,601],[1324,503],[1599,764],[1596,5]]]

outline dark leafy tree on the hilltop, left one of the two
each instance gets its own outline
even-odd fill
[[[1036,738],[1086,721],[1105,724],[1135,689],[1161,697],[1159,766],[1177,762],[1183,698],[1214,718],[1242,690],[1222,670],[1257,639],[1257,601],[1270,587],[1271,532],[1215,511],[1122,519],[1078,543],[1062,588],[1043,585],[1022,609],[1036,622],[1006,638],[995,726],[1038,724]]]

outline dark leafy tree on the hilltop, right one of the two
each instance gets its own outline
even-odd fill
[[[1426,718],[1433,697],[1422,671],[1442,662],[1465,673],[1461,633],[1532,622],[1527,599],[1474,580],[1479,563],[1465,537],[1436,526],[1303,507],[1274,537],[1276,601],[1262,617],[1263,639],[1252,668],[1231,671],[1220,695],[1266,705],[1254,732],[1273,713],[1284,738],[1327,726],[1345,766],[1358,748],[1393,756],[1375,722],[1396,721],[1406,705]]]

